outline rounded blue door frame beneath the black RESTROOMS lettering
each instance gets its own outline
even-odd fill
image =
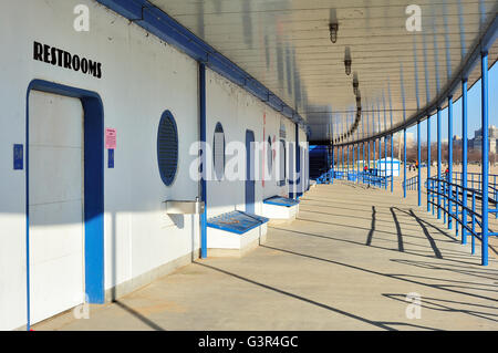
[[[29,98],[31,91],[79,98],[84,112],[84,229],[85,292],[91,303],[104,302],[104,107],[95,92],[33,80],[25,104],[25,245],[27,328],[30,330],[30,215],[29,215]]]

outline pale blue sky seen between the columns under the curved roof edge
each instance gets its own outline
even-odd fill
[[[489,70],[488,75],[489,84],[489,125],[498,126],[498,65],[494,65]],[[474,84],[474,86],[468,91],[468,138],[474,138],[474,132],[480,128],[481,123],[481,86],[480,80]],[[453,135],[458,135],[461,137],[461,98],[454,102],[453,104]],[[407,133],[412,133],[413,136],[417,136],[416,125],[406,129]],[[437,123],[436,115],[430,117],[430,139],[436,142],[437,138]],[[427,142],[427,121],[421,123],[421,141]],[[448,139],[448,110],[442,111],[442,139]]]

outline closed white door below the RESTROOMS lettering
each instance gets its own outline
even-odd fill
[[[83,107],[29,98],[30,314],[35,323],[84,300]]]

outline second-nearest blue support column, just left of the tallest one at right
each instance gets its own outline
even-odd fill
[[[467,79],[461,81],[461,224],[467,225]],[[461,226],[461,243],[467,243],[467,229]]]

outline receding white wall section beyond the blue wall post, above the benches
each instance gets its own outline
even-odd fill
[[[266,115],[266,124],[264,122]],[[295,124],[289,118],[268,107],[257,97],[229,82],[211,70],[207,70],[206,75],[206,139],[212,145],[214,132],[217,123],[221,123],[225,133],[226,144],[230,142],[240,142],[246,144],[246,131],[255,133],[255,141],[267,141],[270,135],[272,141],[276,137],[278,142],[280,123],[286,125],[287,142],[295,141]],[[263,137],[264,127],[264,137]],[[305,133],[302,132],[300,138],[305,141]],[[289,156],[289,153],[288,153]],[[232,157],[227,155],[228,159]],[[295,155],[294,155],[295,157]],[[268,170],[268,164],[264,156],[264,168]],[[259,159],[262,164],[262,157]],[[289,164],[288,164],[289,166]],[[295,163],[294,163],[295,166]],[[261,214],[261,205],[264,198],[281,195],[288,195],[288,185],[279,187],[276,180],[276,168],[278,160],[273,160],[272,178],[270,180],[256,181],[256,212]],[[246,175],[246,165],[242,165],[242,175]],[[268,173],[268,172],[266,172]],[[289,174],[288,174],[289,176]],[[263,187],[264,184],[264,187]],[[246,190],[245,180],[230,181],[210,180],[207,181],[207,217],[218,216],[232,210],[246,210]]]

